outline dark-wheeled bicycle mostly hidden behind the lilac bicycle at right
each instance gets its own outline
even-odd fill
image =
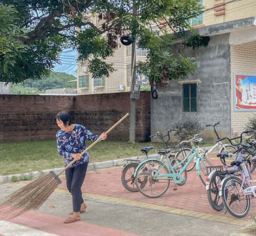
[[[250,149],[251,147],[255,146],[254,143],[252,143],[250,146],[248,145],[245,145],[245,144],[242,144],[242,135],[243,134],[247,134],[249,133],[250,131],[244,131],[241,136],[240,136],[240,143],[235,143],[233,144],[231,140],[234,140],[234,139],[237,139],[237,138],[233,138],[233,139],[228,139],[229,142],[232,144],[232,145],[235,145],[235,146],[239,146],[239,145],[242,145],[243,149],[242,148],[239,148],[237,149],[233,154],[236,154],[238,153],[237,157],[236,157],[236,160],[240,160],[240,161],[244,161],[244,162],[251,162],[249,161],[249,159],[245,158],[243,156],[243,150],[244,149]],[[225,138],[224,138],[225,139]],[[219,153],[217,154],[217,157],[220,157],[220,159],[224,159],[224,163],[225,163],[225,158],[226,157],[229,157],[229,153],[228,152],[224,152],[224,153]],[[234,166],[234,168],[232,170],[228,170],[227,169],[227,165],[225,166],[211,166],[211,167],[208,167],[210,168],[210,174],[208,176],[208,178],[206,179],[207,182],[206,182],[206,190],[207,190],[207,198],[208,198],[208,201],[209,201],[209,204],[210,206],[214,209],[214,210],[217,210],[217,211],[220,211],[224,208],[224,204],[222,202],[222,199],[219,195],[219,186],[220,186],[220,183],[221,181],[227,176],[227,175],[234,175],[237,171],[238,171],[238,167],[237,166]],[[225,168],[225,170],[224,170]]]

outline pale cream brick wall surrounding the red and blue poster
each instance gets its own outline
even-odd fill
[[[245,125],[255,112],[234,111],[234,73],[256,74],[256,41],[230,46],[231,66],[231,128],[233,132],[245,130]]]

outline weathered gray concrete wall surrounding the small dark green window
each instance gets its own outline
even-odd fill
[[[197,88],[198,111],[183,112],[182,84],[178,80],[170,81],[167,87],[159,89],[157,99],[151,98],[151,135],[157,131],[165,133],[175,121],[198,118],[203,126],[221,121],[218,133],[221,137],[230,136],[229,34],[211,36],[207,47],[188,48],[181,53],[198,61],[196,72],[185,79],[201,81]],[[207,127],[203,138],[214,142],[216,135],[212,127]]]

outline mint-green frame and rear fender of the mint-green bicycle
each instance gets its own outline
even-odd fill
[[[192,155],[191,155],[191,154],[192,154]],[[188,159],[188,157],[189,157],[190,155],[191,155],[191,157]],[[200,161],[200,160],[203,161],[203,158],[198,154],[198,152],[196,151],[196,148],[195,148],[194,145],[192,146],[192,149],[190,150],[190,152],[188,153],[188,155],[184,158],[184,160],[181,161],[179,164],[174,165],[174,166],[171,165],[171,163],[170,163],[170,161],[168,160],[168,158],[167,158],[166,162],[163,162],[163,161],[160,161],[160,160],[156,160],[156,159],[150,159],[150,160],[160,161],[160,162],[162,162],[162,164],[163,164],[163,166],[162,166],[160,169],[158,169],[158,170],[156,171],[156,173],[154,174],[155,180],[168,180],[168,179],[169,179],[169,180],[173,180],[174,183],[181,183],[181,182],[183,181],[183,179],[182,179],[182,173],[186,170],[186,168],[187,168],[187,166],[189,165],[189,163],[194,160],[194,157],[196,157],[196,173],[198,174],[198,176],[200,176],[199,161]],[[181,164],[184,163],[186,160],[188,160],[188,161],[187,161],[186,164],[181,168],[181,170],[180,170],[179,172],[175,173],[174,168],[177,167],[177,166],[179,166],[179,165],[181,165]],[[134,172],[134,177],[136,177],[136,175],[137,175],[137,170],[138,170],[138,169],[141,167],[141,165],[143,165],[145,162],[146,162],[146,161],[143,161],[139,166],[137,166],[137,168],[135,169],[135,172]],[[167,163],[168,163],[169,167],[166,165]],[[204,161],[203,161],[203,163],[204,163]],[[205,164],[205,163],[204,163],[204,164]],[[169,174],[166,174],[166,175],[158,175],[158,174],[159,174],[159,171],[160,171],[162,168],[164,168],[164,166],[167,166],[167,168],[169,169],[170,173],[169,173]],[[163,178],[161,178],[161,177],[163,177]],[[166,178],[164,178],[164,177],[166,177]],[[178,178],[177,178],[177,177],[178,177]]]

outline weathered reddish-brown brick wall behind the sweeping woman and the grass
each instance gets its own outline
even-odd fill
[[[70,113],[75,123],[94,134],[107,131],[130,113],[130,93],[80,96],[0,95],[0,142],[55,139],[55,116]],[[129,116],[108,135],[108,140],[129,141]],[[136,140],[150,135],[150,92],[136,101]]]

